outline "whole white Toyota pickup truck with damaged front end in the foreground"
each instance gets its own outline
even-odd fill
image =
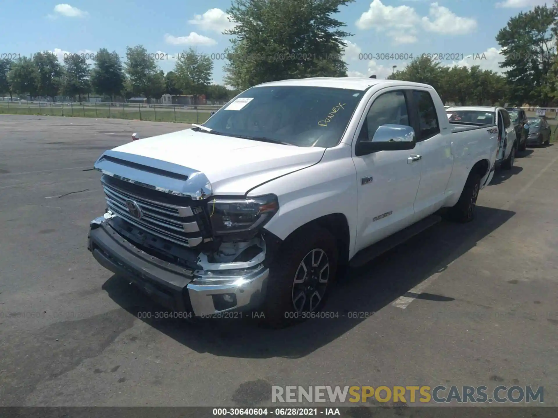
[[[458,132],[454,132],[459,129]],[[473,219],[494,126],[456,127],[429,85],[320,77],[250,88],[204,125],[108,150],[88,249],[184,316],[318,313],[341,268]]]

